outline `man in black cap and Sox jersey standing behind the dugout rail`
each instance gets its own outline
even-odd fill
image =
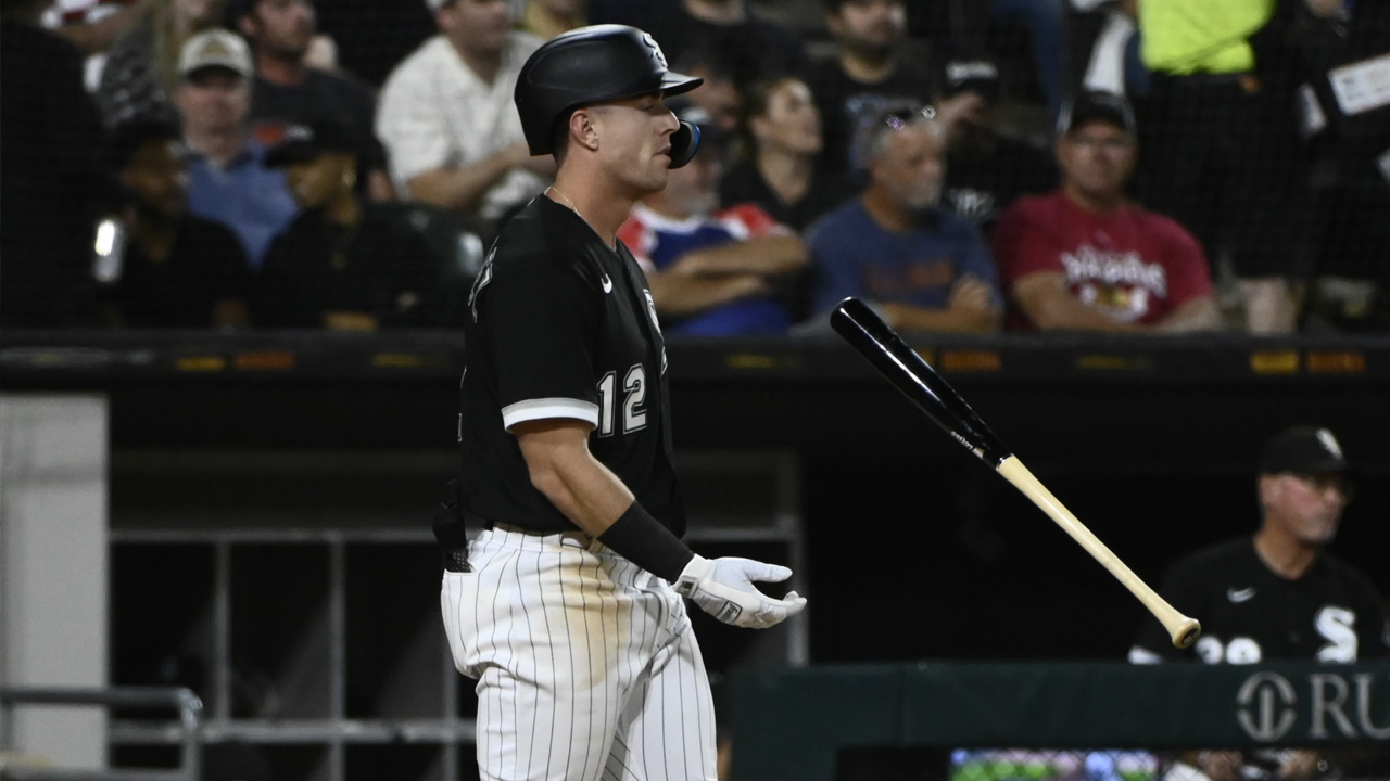
[[[1375,585],[1322,549],[1351,499],[1347,468],[1341,445],[1326,428],[1275,435],[1259,460],[1259,531],[1180,560],[1159,589],[1201,621],[1201,639],[1179,650],[1162,627],[1145,624],[1130,661],[1348,663],[1390,656],[1390,624]],[[1194,752],[1168,777],[1304,780],[1332,770],[1308,750]]]

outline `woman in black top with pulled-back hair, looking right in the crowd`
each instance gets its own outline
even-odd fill
[[[820,111],[795,76],[753,85],[744,97],[744,150],[720,183],[724,206],[756,203],[796,232],[852,193],[820,170]]]

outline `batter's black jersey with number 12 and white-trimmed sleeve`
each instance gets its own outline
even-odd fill
[[[621,242],[609,247],[574,211],[541,196],[503,228],[468,306],[459,416],[464,511],[573,531],[531,485],[509,428],[574,418],[594,425],[594,456],[682,535],[666,346],[632,253]]]

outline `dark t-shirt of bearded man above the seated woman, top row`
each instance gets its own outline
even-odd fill
[[[856,129],[873,121],[885,108],[931,103],[938,92],[940,79],[926,60],[905,57],[887,79],[863,83],[852,79],[840,67],[840,60],[828,57],[810,68],[808,85],[820,108],[824,139],[821,160],[830,170],[855,178],[855,161],[849,156]]]

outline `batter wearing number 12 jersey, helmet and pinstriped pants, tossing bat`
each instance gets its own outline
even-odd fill
[[[560,35],[520,72],[527,143],[559,171],[473,289],[457,516],[482,532],[466,557],[446,553],[441,589],[455,666],[478,680],[485,780],[714,781],[709,681],[681,596],[739,627],[806,605],[752,582],[791,570],[681,542],[666,350],[616,239],[694,156],[698,129],[663,97],[699,83],[620,25]],[[459,541],[456,524],[441,541]]]

